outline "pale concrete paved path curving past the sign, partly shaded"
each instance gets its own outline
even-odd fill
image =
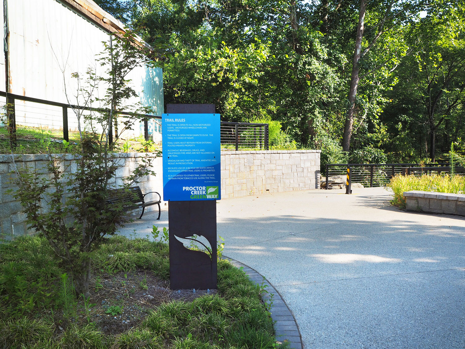
[[[224,254],[272,282],[308,349],[465,348],[465,219],[400,211],[382,188],[343,193],[219,201]]]

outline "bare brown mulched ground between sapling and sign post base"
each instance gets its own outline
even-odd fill
[[[78,325],[93,322],[107,335],[116,335],[139,326],[146,315],[161,303],[192,301],[207,293],[216,293],[216,290],[172,291],[168,281],[161,280],[147,270],[95,275],[90,289],[88,315],[84,302],[79,301],[77,316],[71,320],[66,320],[64,316],[55,318],[57,330],[62,331],[68,322]]]

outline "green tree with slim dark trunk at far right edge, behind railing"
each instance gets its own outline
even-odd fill
[[[415,28],[418,67],[412,82],[425,107],[429,155],[436,158],[436,134],[443,122],[465,101],[465,36],[463,11],[451,8],[441,16],[427,16]]]

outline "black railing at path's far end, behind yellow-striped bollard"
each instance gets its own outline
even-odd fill
[[[440,173],[445,172],[448,165],[448,163],[424,164],[423,168],[431,168],[430,171]],[[327,164],[326,189],[329,189],[329,177],[339,175],[345,178],[349,166],[352,183],[361,183],[364,187],[384,187],[394,175],[405,175],[408,168],[421,168],[419,164]],[[421,171],[412,171],[412,174],[421,175]]]

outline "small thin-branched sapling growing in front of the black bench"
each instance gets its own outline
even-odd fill
[[[29,226],[47,239],[56,257],[73,275],[76,294],[85,298],[90,295],[95,249],[106,235],[114,234],[119,224],[128,221],[121,204],[107,201],[110,183],[122,165],[121,158],[114,154],[118,135],[113,141],[109,137],[111,126],[119,110],[131,111],[130,115],[119,117],[120,135],[140,120],[138,114],[150,111],[139,103],[130,103],[137,94],[128,74],[134,67],[150,64],[146,48],[134,42],[132,34],[124,34],[115,36],[112,45],[104,43],[104,52],[97,59],[106,70],[104,76],[97,76],[93,69],[87,71],[85,79],[72,74],[77,82],[73,96],[86,107],[72,107],[78,120],[77,144],[71,146],[64,141],[66,154],[49,152],[49,161],[42,171],[36,168],[33,172],[15,163],[15,196],[24,208]],[[96,91],[102,85],[106,93],[98,98]],[[71,107],[69,88],[66,95]],[[159,154],[141,158],[124,186],[131,186],[143,175],[154,175],[150,170],[154,156]]]

